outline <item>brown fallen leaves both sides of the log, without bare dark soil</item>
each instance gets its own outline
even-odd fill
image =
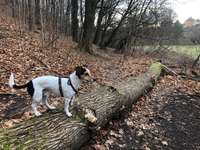
[[[0,21],[0,25],[1,23]],[[58,48],[41,48],[38,35],[34,37],[27,33],[20,35],[14,30],[13,25],[8,25],[6,28],[9,30],[4,35],[8,38],[0,39],[1,93],[10,93],[7,82],[11,71],[15,73],[17,83],[21,84],[41,75],[67,76],[76,66],[88,64],[92,75],[97,78],[99,84],[112,85],[114,82],[122,81],[129,76],[137,76],[145,72],[152,62],[152,58],[148,56],[126,57],[126,59],[123,59],[122,55],[113,52],[105,53],[99,49],[97,50],[98,56],[90,56],[75,49],[75,44],[66,39],[62,41]],[[82,86],[82,91],[88,92],[94,89],[96,85],[85,83]],[[175,88],[184,92],[199,93],[200,83],[169,75],[162,77],[148,96],[143,96],[132,107],[132,111],[128,113],[127,117],[122,118],[120,121],[111,121],[108,128],[101,129],[98,136],[95,137],[95,144],[92,147],[96,150],[108,149],[113,145],[124,148],[127,139],[129,139],[137,147],[149,150],[149,143],[145,140],[148,141],[148,139],[152,140],[153,138],[152,141],[168,146],[169,142],[166,139],[163,140],[162,133],[157,128],[159,124],[156,124],[152,118],[156,116],[167,121],[171,120],[171,114],[158,114],[163,105],[167,103],[165,101],[166,96],[162,95],[163,91],[172,91]],[[61,101],[53,99],[55,100],[54,105],[61,103]],[[1,101],[1,109],[8,107],[6,104]],[[43,111],[44,109],[41,108],[40,110]],[[2,116],[2,114],[0,115]],[[31,117],[33,117],[32,114],[26,111],[21,118],[30,119]],[[4,128],[10,128],[15,123],[22,121],[21,118],[5,120],[1,125]],[[153,136],[158,137],[146,134],[145,131],[151,130]],[[159,137],[159,135],[161,136]],[[126,140],[123,140],[123,137],[126,137]],[[146,139],[143,139],[144,137]],[[144,142],[142,142],[143,140]]]

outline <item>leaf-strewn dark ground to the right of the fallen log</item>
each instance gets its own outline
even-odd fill
[[[199,150],[199,116],[200,94],[166,76],[82,150]]]

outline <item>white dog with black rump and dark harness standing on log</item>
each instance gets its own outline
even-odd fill
[[[84,76],[91,76],[89,69],[86,67],[78,66],[75,71],[69,75],[68,78],[60,78],[55,76],[41,76],[37,77],[27,84],[16,85],[14,75],[11,73],[9,79],[9,86],[14,89],[27,88],[28,93],[32,97],[32,112],[36,116],[40,116],[41,113],[37,110],[37,104],[46,104],[49,109],[55,109],[54,106],[49,105],[47,101],[47,95],[45,91],[53,92],[57,96],[62,96],[65,99],[64,110],[67,116],[71,117],[72,114],[69,112],[69,104],[73,104],[75,94],[78,92],[80,87],[81,79]]]

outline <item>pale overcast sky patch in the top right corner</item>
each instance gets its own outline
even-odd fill
[[[200,0],[172,0],[172,3],[181,23],[189,17],[200,19]]]

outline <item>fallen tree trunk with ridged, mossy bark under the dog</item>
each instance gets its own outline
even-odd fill
[[[91,129],[102,127],[150,90],[163,69],[161,63],[153,63],[139,77],[130,77],[113,87],[100,86],[79,96],[72,118],[62,111],[45,113],[4,129],[0,133],[0,146],[2,149],[78,149],[89,140]]]

